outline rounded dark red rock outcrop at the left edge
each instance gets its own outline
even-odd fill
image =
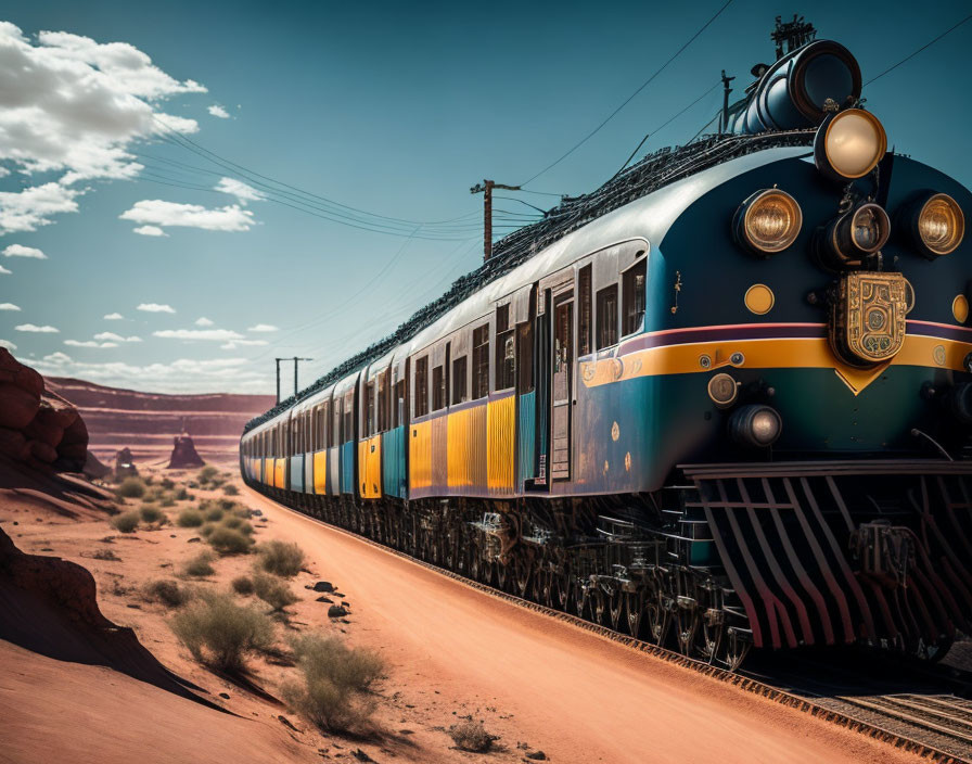
[[[43,378],[0,347],[0,454],[34,467],[80,471],[88,429],[73,404],[44,390]]]

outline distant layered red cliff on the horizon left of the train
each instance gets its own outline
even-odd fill
[[[167,459],[183,430],[204,459],[234,458],[243,425],[274,403],[272,395],[141,393],[62,377],[46,382],[81,412],[89,447],[102,460],[126,446],[137,461]]]

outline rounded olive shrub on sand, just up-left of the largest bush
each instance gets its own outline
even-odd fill
[[[172,632],[197,661],[239,672],[250,653],[273,644],[273,623],[255,608],[236,604],[229,595],[207,595],[170,623]]]

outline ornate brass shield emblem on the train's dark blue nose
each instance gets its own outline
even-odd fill
[[[900,273],[844,273],[831,311],[830,345],[850,366],[890,360],[905,342],[907,313],[908,285]]]

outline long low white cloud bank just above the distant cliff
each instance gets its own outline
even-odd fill
[[[166,393],[268,393],[272,380],[266,365],[245,358],[189,359],[137,366],[124,361],[76,361],[52,353],[33,362],[42,374],[76,377],[101,384]]]

